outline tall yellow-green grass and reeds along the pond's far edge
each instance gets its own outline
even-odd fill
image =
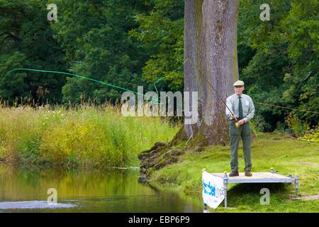
[[[82,105],[54,111],[0,108],[0,160],[64,167],[138,166],[138,153],[177,132],[154,117],[124,117],[121,109]]]

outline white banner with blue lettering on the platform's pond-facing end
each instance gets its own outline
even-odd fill
[[[203,170],[203,203],[216,209],[224,200],[223,178],[211,175]]]

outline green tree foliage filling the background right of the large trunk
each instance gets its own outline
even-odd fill
[[[238,43],[255,51],[240,75],[247,94],[256,102],[318,111],[318,1],[268,1],[270,21],[259,19],[264,2],[240,3]],[[261,131],[273,131],[289,115],[284,109],[256,107],[259,116],[253,121]],[[305,126],[318,123],[318,114],[292,112]]]

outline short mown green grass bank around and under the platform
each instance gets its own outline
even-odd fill
[[[179,145],[183,147],[184,144]],[[230,172],[229,146],[207,147],[202,153],[187,152],[179,162],[167,165],[152,173],[151,184],[201,197],[201,170],[208,172]],[[240,172],[244,160],[242,145],[239,150]],[[298,175],[299,196],[319,194],[319,143],[296,140],[289,135],[268,133],[258,135],[252,142],[252,172],[269,172],[274,167],[282,175]],[[260,189],[270,191],[270,205],[260,204]],[[213,212],[318,212],[319,200],[294,201],[293,184],[228,184],[228,206],[223,203]]]

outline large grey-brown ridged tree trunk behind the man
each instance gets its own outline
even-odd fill
[[[208,82],[224,101],[233,94],[238,8],[239,0],[185,1],[184,91],[198,92],[198,121],[185,124],[184,133],[201,145],[228,141],[225,105]]]

